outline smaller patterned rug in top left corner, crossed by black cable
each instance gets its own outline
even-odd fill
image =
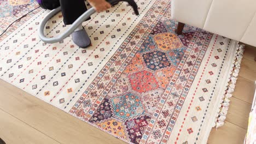
[[[0,1],[0,34],[4,32],[7,27],[18,20],[23,15],[27,14],[33,9],[36,9],[39,5],[34,0],[1,0]],[[30,15],[27,15],[24,19],[17,21],[9,29],[7,29],[7,35],[18,28],[22,23],[30,19],[39,10],[33,11]],[[5,38],[0,38],[0,41]]]

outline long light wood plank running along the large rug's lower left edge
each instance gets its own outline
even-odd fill
[[[0,109],[61,143],[124,143],[3,80],[0,80],[0,92]]]

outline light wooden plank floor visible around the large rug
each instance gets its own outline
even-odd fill
[[[208,143],[243,143],[256,80],[256,49],[247,46],[223,127]],[[11,143],[124,143],[0,80],[0,137]]]

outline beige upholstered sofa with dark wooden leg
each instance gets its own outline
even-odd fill
[[[256,0],[172,0],[172,19],[256,46]]]

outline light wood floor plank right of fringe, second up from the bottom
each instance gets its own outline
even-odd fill
[[[226,121],[247,129],[252,105],[237,98],[230,98],[230,100]]]

